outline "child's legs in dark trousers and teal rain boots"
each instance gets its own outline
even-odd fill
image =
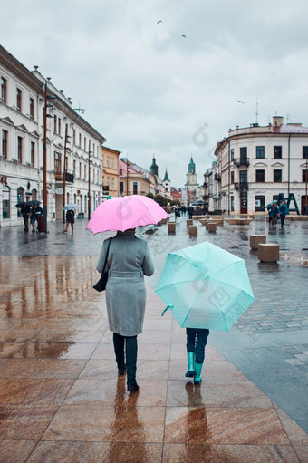
[[[194,384],[201,384],[201,371],[205,359],[205,350],[209,330],[207,328],[186,329],[186,350],[188,353],[188,371],[185,376],[194,378]]]

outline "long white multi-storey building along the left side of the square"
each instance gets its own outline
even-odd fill
[[[72,109],[70,99],[45,80],[37,66],[30,72],[2,46],[0,80],[0,227],[22,223],[17,202],[38,199],[43,207],[45,84],[48,95],[56,97],[46,105],[47,217],[63,218],[63,187],[65,204],[76,203],[77,212],[87,215],[89,190],[91,210],[101,201],[105,138]]]

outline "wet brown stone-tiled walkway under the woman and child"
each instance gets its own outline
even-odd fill
[[[129,394],[94,266],[88,256],[0,258],[0,461],[304,458],[303,429],[210,345],[201,386],[185,379],[185,333],[160,316],[149,286],[140,391]]]

